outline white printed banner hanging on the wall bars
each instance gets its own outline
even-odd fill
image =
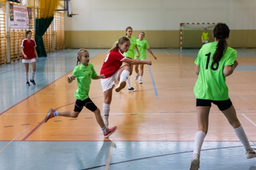
[[[29,15],[27,7],[10,4],[10,28],[29,29]]]

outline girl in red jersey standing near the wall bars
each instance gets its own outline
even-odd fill
[[[22,40],[21,43],[21,53],[22,53],[22,63],[25,64],[25,78],[27,80],[27,86],[30,86],[28,81],[28,70],[29,70],[29,63],[32,66],[32,76],[30,82],[36,85],[35,83],[35,73],[36,73],[36,60],[38,62],[38,55],[36,52],[36,42],[31,39],[32,31],[28,30],[26,32],[26,38]],[[36,60],[35,60],[36,55]]]

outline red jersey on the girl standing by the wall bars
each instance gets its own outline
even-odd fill
[[[34,51],[34,47],[36,47],[36,42],[33,39],[28,40],[23,39],[22,43],[21,43],[21,47],[24,47],[23,52],[27,55],[28,58],[25,58],[22,55],[22,59],[32,59],[35,58],[35,51]]]

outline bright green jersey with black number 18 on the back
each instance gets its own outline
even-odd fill
[[[194,87],[194,94],[197,99],[229,99],[223,69],[226,65],[234,64],[237,52],[235,49],[227,47],[221,60],[212,64],[217,44],[218,41],[203,45],[195,60],[195,64],[200,66],[198,79]]]

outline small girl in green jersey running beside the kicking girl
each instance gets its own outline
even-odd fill
[[[94,67],[91,63],[89,63],[89,51],[87,49],[79,49],[77,53],[77,64],[72,74],[68,75],[68,83],[73,82],[73,80],[77,79],[77,90],[75,91],[75,108],[73,112],[70,111],[55,111],[50,108],[49,112],[45,117],[45,122],[47,122],[50,118],[55,116],[65,116],[65,117],[74,117],[76,118],[79,113],[82,111],[83,107],[86,107],[90,111],[95,114],[97,123],[100,125],[100,128],[103,131],[103,135],[105,138],[108,138],[112,133],[116,131],[116,126],[113,128],[107,128],[102,120],[100,115],[100,109],[95,106],[93,101],[89,98],[89,90],[91,79],[105,79],[105,75],[97,75],[94,70]]]

